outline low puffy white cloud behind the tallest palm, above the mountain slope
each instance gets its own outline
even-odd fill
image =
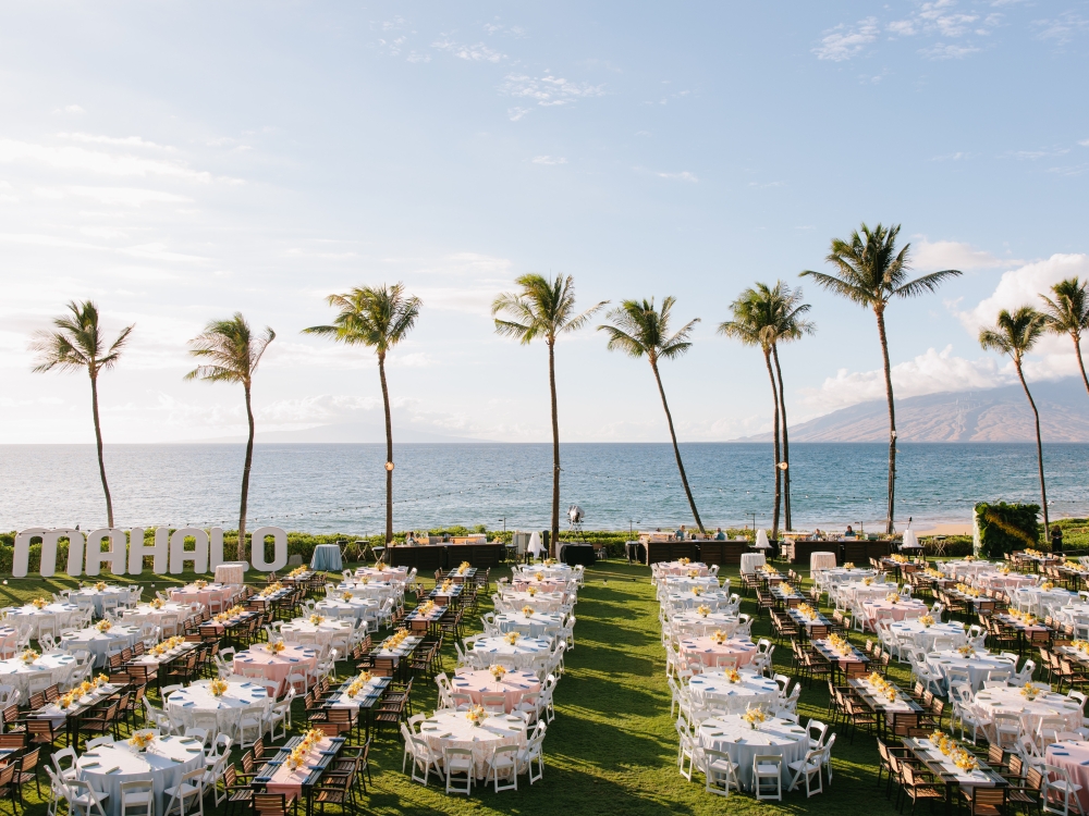
[[[952,345],[941,351],[929,348],[926,354],[892,367],[892,385],[897,399],[943,391],[993,388],[1011,380],[992,358],[954,357]],[[835,376],[824,380],[820,388],[804,388],[803,394],[804,403],[821,413],[884,399],[884,372],[873,369],[848,373],[847,369],[840,369]]]

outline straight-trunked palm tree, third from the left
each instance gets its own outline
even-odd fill
[[[343,295],[330,295],[326,300],[340,309],[333,324],[310,326],[303,332],[332,337],[348,346],[369,346],[378,356],[378,378],[386,407],[386,543],[389,544],[393,541],[393,422],[386,384],[386,355],[416,325],[423,301],[406,296],[402,283],[357,287]]]

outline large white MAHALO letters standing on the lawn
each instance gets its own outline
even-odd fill
[[[144,543],[144,528],[134,527],[127,535],[124,530],[103,529],[82,533],[70,528],[47,529],[32,527],[15,536],[15,557],[11,573],[25,578],[30,561],[30,544],[41,542],[42,578],[57,573],[57,543],[69,541],[69,561],[64,570],[70,576],[97,576],[102,565],[108,565],[115,576],[138,576],[144,571],[144,559],[151,558],[151,571],[179,573],[185,565],[192,565],[194,572],[207,572],[223,564],[223,529],[213,527],[201,530],[198,527],[183,527],[170,531],[169,528],[155,529],[155,543]],[[265,542],[272,539],[272,560],[265,560]],[[186,547],[192,541],[192,548]],[[108,545],[103,548],[103,545]],[[274,572],[287,565],[287,533],[279,527],[260,527],[253,534],[253,568],[261,572]]]

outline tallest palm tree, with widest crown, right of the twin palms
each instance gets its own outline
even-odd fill
[[[807,270],[803,276],[812,277],[841,297],[853,300],[862,308],[873,310],[878,320],[878,336],[881,341],[881,357],[884,363],[885,397],[889,400],[889,508],[885,532],[894,530],[896,498],[896,410],[892,394],[892,367],[889,364],[889,338],[885,335],[884,313],[894,297],[915,297],[935,292],[947,277],[960,274],[959,270],[945,269],[929,275],[907,280],[907,252],[910,244],[896,251],[896,236],[900,224],[884,227],[878,224],[870,230],[861,225],[861,235],[856,230],[849,240],[832,239],[832,248],[824,258],[835,268],[835,274]]]

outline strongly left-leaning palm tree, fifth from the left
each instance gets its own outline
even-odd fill
[[[673,415],[670,413],[669,403],[665,401],[665,388],[662,387],[662,375],[658,371],[659,360],[672,360],[680,357],[689,348],[692,342],[688,339],[692,330],[699,322],[699,318],[685,323],[677,332],[670,335],[670,312],[676,298],[666,297],[662,301],[662,310],[654,310],[654,299],[647,300],[624,300],[619,308],[609,312],[607,318],[612,321],[612,325],[599,325],[598,331],[609,333],[609,350],[620,349],[626,351],[629,357],[646,356],[650,362],[650,370],[654,372],[654,382],[658,383],[658,393],[662,397],[662,407],[665,409],[665,419],[670,425],[670,437],[673,440],[673,455],[677,460],[677,470],[681,471],[681,483],[684,485],[685,495],[688,496],[688,506],[692,508],[693,518],[696,519],[696,527],[701,533],[703,522],[699,520],[699,511],[696,509],[696,499],[692,497],[692,490],[688,487],[688,477],[684,472],[684,462],[681,461],[681,448],[677,447],[677,435],[673,430]]]

